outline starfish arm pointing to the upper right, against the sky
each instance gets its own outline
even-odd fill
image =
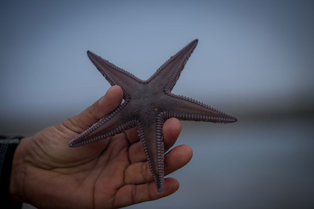
[[[161,65],[154,75],[146,81],[158,82],[162,86],[165,86],[168,91],[171,91],[173,86],[176,84],[176,81],[179,79],[181,71],[183,70],[185,63],[189,59],[197,43],[198,39],[195,39],[187,44],[183,49]]]

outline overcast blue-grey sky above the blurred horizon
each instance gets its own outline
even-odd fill
[[[1,115],[83,110],[104,95],[87,50],[145,80],[196,38],[173,93],[214,107],[313,95],[313,1],[0,5]]]

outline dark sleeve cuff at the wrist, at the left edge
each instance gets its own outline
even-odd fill
[[[0,135],[0,200],[1,205],[9,208],[21,208],[22,203],[10,200],[9,182],[12,161],[16,147],[22,136]]]

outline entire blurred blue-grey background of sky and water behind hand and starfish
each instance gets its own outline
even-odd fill
[[[236,115],[182,122],[171,196],[129,208],[314,207],[313,1],[1,1],[0,133],[32,135],[110,84],[91,50],[145,80],[193,39],[172,93]],[[24,204],[23,208],[33,208]]]

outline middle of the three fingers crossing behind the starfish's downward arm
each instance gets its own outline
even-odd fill
[[[165,154],[165,175],[172,173],[186,165],[192,158],[191,147],[179,145]],[[126,184],[143,184],[153,180],[148,162],[137,162],[129,165],[125,170]]]

